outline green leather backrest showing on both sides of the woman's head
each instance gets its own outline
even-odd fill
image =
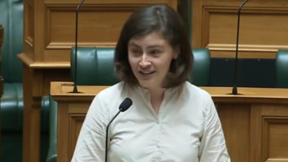
[[[206,48],[192,49],[194,67],[191,81],[197,86],[210,85],[210,51]],[[77,85],[107,85],[119,82],[114,74],[114,48],[78,47]],[[75,48],[71,49],[71,76],[74,81]]]

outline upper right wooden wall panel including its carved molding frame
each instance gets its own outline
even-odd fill
[[[237,17],[237,8],[235,7],[215,7],[215,6],[204,6],[204,20],[203,20],[203,45],[209,48],[213,57],[222,57],[223,53],[231,52],[231,56],[235,57],[236,49],[236,28],[234,29],[233,22],[221,22],[225,18],[228,20]],[[242,21],[240,22],[240,37],[239,40],[239,52],[243,58],[274,58],[277,50],[288,49],[288,46],[281,41],[281,37],[276,35],[280,34],[281,31],[276,30],[280,24],[274,24],[271,26],[262,25],[264,18],[274,19],[282,17],[288,14],[288,10],[278,10],[271,8],[243,8]],[[214,19],[214,20],[213,20]],[[216,20],[215,20],[216,19]],[[258,22],[254,22],[258,19]],[[254,23],[251,23],[251,22]],[[268,20],[267,20],[268,21]],[[282,22],[282,21],[280,21]],[[280,23],[279,22],[279,23]],[[225,29],[226,28],[226,29]],[[231,31],[230,31],[230,29]],[[222,32],[221,32],[222,30]],[[227,31],[226,33],[224,32]],[[229,31],[228,31],[229,30]],[[257,32],[256,30],[259,30]],[[263,32],[262,32],[263,30]],[[265,32],[267,31],[267,32]],[[273,35],[268,31],[273,32]],[[222,34],[220,34],[220,32]],[[233,33],[235,32],[235,33]],[[284,32],[284,29],[283,29]],[[207,33],[210,33],[209,35]],[[220,38],[220,35],[223,38]],[[235,36],[235,38],[234,38]],[[270,38],[270,39],[269,39]],[[274,39],[273,39],[274,38]],[[273,40],[274,44],[269,44]],[[278,40],[278,41],[277,41]],[[219,42],[219,43],[218,43]],[[281,44],[282,43],[282,44]],[[253,53],[253,55],[251,55]],[[261,54],[257,54],[261,53]],[[271,54],[274,53],[274,54]]]

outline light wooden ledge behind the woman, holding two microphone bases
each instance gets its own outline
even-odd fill
[[[56,101],[91,101],[96,94],[109,86],[77,86],[79,92],[73,91],[73,82],[51,82],[50,94]],[[288,89],[278,88],[238,88],[242,95],[228,95],[232,87],[200,87],[207,91],[215,102],[223,103],[259,103],[288,104]]]

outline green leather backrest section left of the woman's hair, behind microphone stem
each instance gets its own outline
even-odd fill
[[[78,47],[77,85],[113,85],[119,82],[114,75],[114,48]],[[71,76],[74,81],[75,48],[71,49]]]

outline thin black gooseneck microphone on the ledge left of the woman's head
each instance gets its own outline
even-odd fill
[[[77,52],[78,52],[78,11],[81,7],[81,5],[83,4],[85,0],[82,0],[78,6],[77,6],[77,9],[76,9],[76,25],[75,25],[75,28],[76,28],[76,31],[75,31],[75,71],[74,71],[74,88],[73,88],[73,91],[72,92],[69,92],[69,93],[82,93],[82,92],[79,92],[78,91],[78,88],[77,88]]]

